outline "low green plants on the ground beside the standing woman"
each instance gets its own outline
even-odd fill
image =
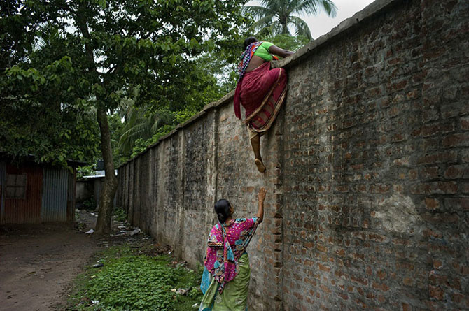
[[[76,278],[67,310],[197,310],[192,305],[202,300],[200,272],[174,267],[169,255],[137,252],[129,245],[102,252],[98,258],[104,267],[87,268]],[[188,294],[171,291],[180,288]]]

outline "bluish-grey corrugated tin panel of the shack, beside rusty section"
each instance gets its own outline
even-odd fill
[[[41,220],[65,222],[69,171],[64,168],[44,168]]]

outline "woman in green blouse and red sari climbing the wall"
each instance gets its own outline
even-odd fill
[[[286,96],[286,71],[270,68],[270,61],[293,55],[273,43],[249,37],[244,41],[244,52],[238,66],[239,80],[235,91],[235,115],[241,119],[241,104],[246,110],[249,139],[260,173],[265,171],[260,156],[260,136],[267,131],[279,113]]]

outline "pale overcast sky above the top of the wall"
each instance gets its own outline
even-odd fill
[[[320,12],[314,16],[302,16],[302,19],[308,23],[313,38],[318,38],[323,34],[327,34],[332,28],[340,24],[342,20],[351,17],[353,14],[363,10],[365,6],[372,3],[373,0],[333,0],[337,6],[337,15],[328,17],[324,12]],[[258,6],[260,1],[253,0],[247,3],[248,6]]]

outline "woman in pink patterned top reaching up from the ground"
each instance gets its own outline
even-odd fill
[[[265,193],[260,188],[258,214],[253,218],[233,219],[235,210],[225,199],[215,204],[219,223],[209,234],[199,311],[247,310],[251,268],[246,247],[264,217]]]

